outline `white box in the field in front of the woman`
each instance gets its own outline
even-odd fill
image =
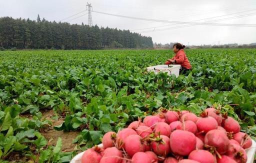
[[[179,75],[179,69],[180,69],[180,64],[162,64],[162,65],[155,65],[155,66],[150,66],[147,67],[147,71],[154,71],[154,73],[158,73],[159,71],[162,72],[167,72],[168,75],[170,74],[175,74],[176,77]]]

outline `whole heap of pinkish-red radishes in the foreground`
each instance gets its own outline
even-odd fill
[[[206,108],[200,117],[161,110],[105,133],[102,144],[85,150],[81,163],[245,163],[252,140],[235,119]]]

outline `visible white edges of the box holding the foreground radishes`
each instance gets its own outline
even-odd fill
[[[102,144],[99,144],[98,145],[99,147],[103,147]],[[252,140],[252,144],[251,144],[251,147],[248,148],[248,149],[245,149],[246,150],[246,153],[247,153],[247,161],[246,163],[253,163],[253,160],[254,160],[254,154],[255,154],[255,151],[256,151],[256,142],[254,140]],[[84,151],[83,151],[84,152]],[[73,159],[70,161],[70,163],[81,163],[81,157],[82,157],[82,154],[83,152],[75,155],[73,157]]]

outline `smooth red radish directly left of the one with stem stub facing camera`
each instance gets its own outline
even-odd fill
[[[133,154],[139,151],[144,151],[145,146],[141,141],[142,137],[137,134],[129,135],[124,140],[124,149],[128,153],[129,156],[132,157]]]

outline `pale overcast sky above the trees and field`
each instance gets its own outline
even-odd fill
[[[151,19],[214,23],[256,24],[256,0],[87,0],[93,10]],[[86,0],[0,0],[0,17],[12,16],[59,21],[86,9]],[[239,12],[239,13],[237,13]],[[64,21],[87,24],[82,12]],[[214,18],[209,18],[214,17]],[[232,18],[232,19],[231,19]],[[69,21],[70,20],[70,21]],[[183,44],[223,44],[256,42],[256,27],[171,24],[115,17],[92,12],[93,25],[130,29],[151,36],[153,42]],[[213,22],[213,21],[212,21]],[[165,25],[165,26],[164,26]],[[168,25],[168,26],[167,26]],[[160,26],[160,27],[158,27]],[[175,28],[175,26],[178,26]],[[182,26],[182,27],[181,27]],[[146,29],[147,28],[147,29]],[[137,30],[140,29],[140,30]],[[160,30],[159,30],[160,29]],[[161,30],[163,29],[163,30]],[[159,30],[159,31],[158,31]],[[146,31],[146,32],[145,32]],[[149,32],[147,32],[149,31]]]

